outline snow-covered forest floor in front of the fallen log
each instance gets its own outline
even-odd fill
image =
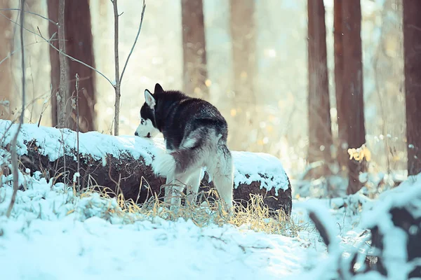
[[[0,149],[1,166],[9,156]],[[29,172],[20,172],[25,190],[18,190],[10,218],[5,214],[13,177],[0,173],[1,279],[339,279],[336,260],[307,211],[316,211],[328,225],[345,259],[370,250],[366,225],[376,217],[376,202],[357,193],[294,200],[281,235],[264,225],[253,227],[253,221],[200,226],[191,219],[128,211],[115,198],[78,194]],[[420,185],[417,176],[388,192],[402,195]],[[370,272],[355,279],[387,278]]]

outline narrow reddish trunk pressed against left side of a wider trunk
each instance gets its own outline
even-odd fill
[[[333,39],[334,39],[334,56],[335,56],[335,97],[336,111],[338,117],[338,164],[342,172],[348,169],[348,153],[347,153],[347,117],[345,110],[347,104],[342,98],[344,85],[342,76],[344,73],[344,57],[343,57],[343,31],[342,31],[342,1],[334,0],[333,2]]]

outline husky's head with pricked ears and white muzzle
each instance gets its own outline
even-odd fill
[[[140,109],[140,125],[135,131],[135,136],[150,138],[155,137],[159,133],[159,130],[156,128],[156,99],[154,94],[161,92],[163,92],[163,89],[159,83],[155,85],[153,94],[149,90],[145,90],[145,103]]]

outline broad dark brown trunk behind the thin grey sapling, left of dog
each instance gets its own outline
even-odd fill
[[[48,0],[48,18],[58,22],[58,1]],[[50,36],[58,31],[55,25],[49,25]],[[56,37],[57,38],[57,37]],[[65,50],[67,55],[85,62],[88,65],[95,66],[93,57],[93,39],[91,31],[91,12],[89,10],[89,1],[69,1],[65,2]],[[58,42],[53,44],[58,48]],[[58,52],[50,48],[51,59],[51,83],[53,85],[52,120],[53,126],[58,124],[56,117],[57,99],[55,94],[58,90],[60,81],[60,59]],[[79,62],[68,59],[69,64],[69,94],[76,97],[76,73],[79,74],[79,128],[81,132],[95,130],[95,73],[88,67]],[[67,108],[72,105],[72,100],[67,99]],[[74,106],[71,106],[74,107]],[[69,116],[66,119],[66,126],[76,130],[76,113],[70,107]]]

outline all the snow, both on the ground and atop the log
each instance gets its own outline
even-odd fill
[[[8,130],[8,126],[10,122],[0,121],[0,139],[6,143],[13,135],[13,127]],[[133,153],[152,162],[164,146],[159,140],[93,132],[80,134],[80,138],[82,153],[92,151],[98,159],[104,153]],[[32,140],[44,143],[41,152],[54,158],[65,153],[57,142],[72,147],[75,138],[69,130],[24,125],[18,138],[20,154],[26,152],[25,141]],[[240,173],[236,176],[283,172],[272,156],[233,155]],[[9,162],[10,154],[0,148],[0,165],[10,168]],[[421,216],[421,174],[387,190],[377,201],[362,193],[295,200],[291,221],[300,228],[296,234],[289,228],[285,236],[255,232],[248,225],[199,227],[182,218],[167,221],[128,213],[115,199],[98,193],[75,194],[72,187],[47,181],[41,172],[29,174],[28,170],[19,172],[25,188],[18,190],[11,217],[6,218],[13,176],[0,172],[1,279],[339,279],[338,268],[349,267],[354,253],[370,250],[366,228],[372,225],[387,232],[384,253],[391,279],[405,279],[413,267],[406,262],[406,237],[385,213],[391,207],[406,206]],[[267,180],[271,186],[271,179]],[[328,230],[329,252],[309,222],[309,211]],[[356,265],[363,266],[363,258]],[[352,279],[386,278],[369,272]]]

